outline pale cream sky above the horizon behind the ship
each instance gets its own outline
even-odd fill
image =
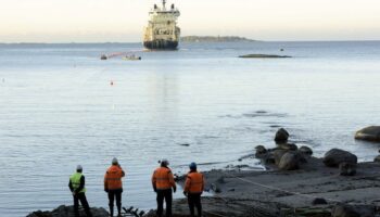
[[[138,42],[160,0],[0,0],[0,42]],[[380,40],[380,0],[168,0],[182,36]]]

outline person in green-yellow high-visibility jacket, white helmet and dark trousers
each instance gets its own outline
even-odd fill
[[[83,167],[78,165],[76,167],[76,173],[69,177],[68,188],[73,193],[74,199],[74,215],[75,217],[79,217],[79,201],[81,206],[85,209],[85,213],[88,217],[92,217],[90,212],[90,206],[88,205],[86,199],[86,188],[85,188],[85,176],[83,173]]]

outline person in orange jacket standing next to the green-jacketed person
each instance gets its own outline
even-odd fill
[[[124,170],[116,157],[112,159],[112,166],[104,175],[104,191],[109,194],[109,205],[111,217],[114,215],[114,201],[116,197],[117,216],[122,216],[122,178],[125,176]]]

